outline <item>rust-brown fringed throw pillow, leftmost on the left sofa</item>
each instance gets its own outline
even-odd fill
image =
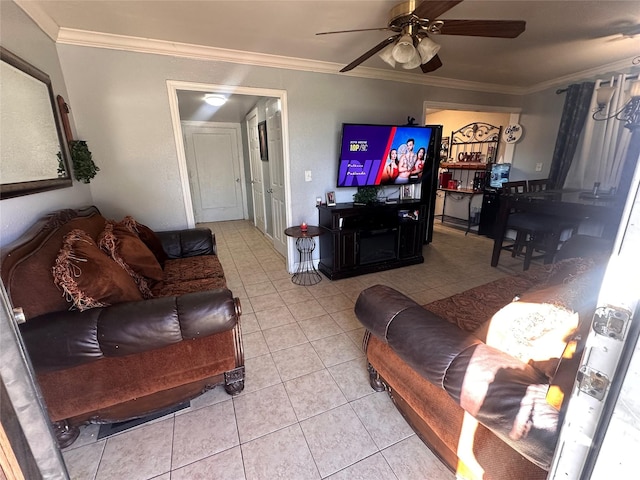
[[[53,281],[81,311],[142,300],[127,272],[79,229],[65,235],[53,266]]]

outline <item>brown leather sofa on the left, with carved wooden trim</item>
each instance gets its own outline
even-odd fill
[[[107,224],[121,227],[96,207],[54,212],[2,252],[2,280],[26,319],[22,339],[63,446],[83,423],[147,416],[220,384],[230,394],[244,388],[240,302],[226,288],[208,229],[156,234],[137,224],[147,260],[151,252],[159,264],[159,277],[146,279],[146,294],[132,283],[131,301],[94,299],[92,305],[104,306],[84,309],[69,302],[70,290],[63,294],[52,274],[64,260],[62,246],[74,232],[98,240]],[[88,237],[80,244],[88,245]],[[70,281],[79,283],[91,260],[67,256],[77,260]],[[108,276],[102,266],[98,276]]]

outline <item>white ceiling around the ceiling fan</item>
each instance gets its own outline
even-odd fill
[[[428,1],[428,0],[427,0]],[[366,52],[388,32],[316,36],[386,26],[395,0],[16,0],[27,13],[72,30],[109,33],[335,63]],[[36,16],[34,16],[36,18]],[[442,45],[440,79],[531,89],[576,73],[631,67],[640,55],[640,1],[466,0],[442,19],[525,20],[516,39],[433,36]],[[53,22],[53,24],[51,23]],[[638,31],[632,36],[630,31]],[[75,32],[77,33],[77,32]],[[627,33],[625,35],[625,33]],[[287,60],[287,59],[285,59]],[[276,60],[277,63],[277,60]],[[390,70],[377,56],[362,67]],[[401,69],[399,69],[402,71]],[[417,75],[412,70],[406,75]],[[424,75],[419,73],[420,75]]]

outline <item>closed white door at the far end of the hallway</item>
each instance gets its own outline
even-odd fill
[[[246,218],[240,125],[185,123],[183,132],[196,222]]]

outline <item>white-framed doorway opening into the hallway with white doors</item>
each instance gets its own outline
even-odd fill
[[[188,226],[250,219],[293,258],[284,235],[291,218],[286,91],[172,80],[167,88]],[[207,93],[228,105],[203,113]],[[268,158],[256,158],[252,112],[267,123]]]

